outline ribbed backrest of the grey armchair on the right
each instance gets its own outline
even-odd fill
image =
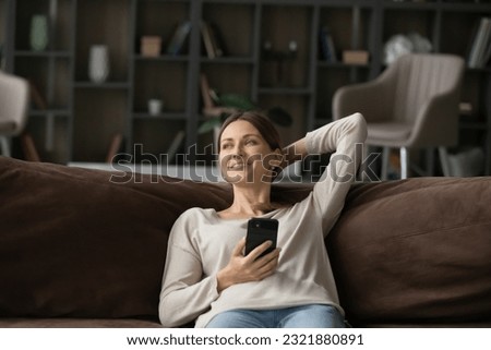
[[[444,93],[455,94],[453,100],[455,111],[458,111],[464,72],[462,58],[453,55],[409,53],[396,60],[388,70],[396,75],[393,90],[395,119],[412,123],[421,107],[435,95]]]

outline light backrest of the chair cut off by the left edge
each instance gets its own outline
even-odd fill
[[[24,130],[28,94],[26,80],[0,71],[0,135],[13,136]]]

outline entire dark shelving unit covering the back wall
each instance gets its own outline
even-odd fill
[[[384,44],[416,32],[435,52],[467,57],[480,17],[491,1],[391,0],[0,0],[0,40],[7,71],[29,79],[46,108],[32,106],[27,131],[45,161],[100,162],[115,136],[132,162],[209,164],[213,134],[204,122],[200,76],[218,93],[241,94],[260,108],[279,106],[294,119],[279,126],[285,143],[332,118],[332,97],[344,85],[378,76],[385,68]],[[49,44],[29,45],[34,14],[49,19]],[[177,55],[167,53],[172,35],[188,21],[191,32]],[[208,58],[201,24],[223,38],[224,55]],[[320,29],[327,27],[337,62],[320,56]],[[144,36],[161,38],[157,57],[142,55]],[[106,82],[88,79],[88,51],[108,47]],[[369,52],[366,64],[342,62],[344,50]],[[486,150],[491,173],[491,68],[468,69],[463,101],[474,110],[462,117],[462,145]],[[163,111],[148,113],[159,98]],[[176,135],[185,133],[178,153],[165,159]],[[22,153],[17,152],[22,157]]]

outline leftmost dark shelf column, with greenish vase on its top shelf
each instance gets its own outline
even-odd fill
[[[15,19],[9,25],[7,47],[8,70],[26,77],[38,96],[31,106],[27,132],[38,145],[40,156],[48,161],[70,159],[71,125],[73,119],[72,71],[74,19],[73,1],[10,1],[10,13]],[[48,17],[47,47],[32,49],[31,20],[35,14]]]

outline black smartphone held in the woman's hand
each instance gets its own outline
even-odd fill
[[[265,241],[272,241],[273,244],[265,252],[263,252],[260,257],[273,252],[276,249],[277,237],[278,220],[265,218],[250,219],[248,221],[248,234],[246,238],[246,255]]]

